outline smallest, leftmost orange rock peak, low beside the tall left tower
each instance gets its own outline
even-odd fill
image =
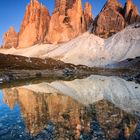
[[[10,27],[9,30],[3,35],[3,44],[2,48],[16,48],[18,45],[18,33],[15,32],[13,27]]]

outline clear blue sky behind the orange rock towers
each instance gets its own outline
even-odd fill
[[[2,35],[6,32],[10,26],[13,26],[16,31],[19,30],[26,5],[30,0],[0,0],[0,45],[2,43]],[[84,4],[88,1],[92,5],[92,12],[94,17],[100,12],[106,0],[82,0]],[[118,0],[124,5],[125,0]],[[140,0],[132,0],[137,7],[139,7],[140,13]],[[54,7],[54,0],[39,0],[43,3],[52,13]]]

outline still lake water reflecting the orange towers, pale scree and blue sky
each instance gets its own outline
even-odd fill
[[[117,77],[5,88],[1,98],[1,140],[140,139],[140,85]]]

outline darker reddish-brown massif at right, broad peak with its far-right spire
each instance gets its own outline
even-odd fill
[[[131,0],[127,0],[124,8],[117,0],[107,0],[94,21],[93,33],[102,38],[108,38],[127,25],[139,21],[138,10]]]

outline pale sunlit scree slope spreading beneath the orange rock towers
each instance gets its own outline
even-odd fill
[[[133,24],[108,39],[86,32],[62,44],[38,44],[27,48],[0,49],[0,53],[43,59],[50,57],[65,63],[102,67],[139,56],[139,34],[139,24]]]

